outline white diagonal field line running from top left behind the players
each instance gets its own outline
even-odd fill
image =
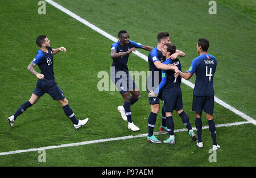
[[[46,2],[48,2],[49,4],[51,4],[52,6],[56,7],[57,9],[63,11],[65,14],[68,14],[69,16],[72,16],[72,18],[78,20],[79,22],[85,24],[86,26],[92,28],[94,31],[97,31],[98,33],[100,33],[101,35],[105,36],[106,38],[112,40],[113,42],[117,42],[117,38],[115,38],[114,36],[108,34],[107,32],[101,30],[100,28],[94,26],[94,24],[88,22],[87,20],[85,19],[82,19],[80,16],[72,13],[71,11],[69,11],[68,9],[65,9],[65,7],[59,5],[58,3],[52,1],[52,0],[45,0]],[[141,57],[143,60],[147,61],[147,56],[146,55],[143,55],[141,52],[133,52],[135,55]],[[182,78],[183,79],[183,78]],[[192,82],[190,81],[187,81],[187,80],[182,80],[182,82],[188,86],[190,86],[191,88],[194,88],[195,84],[193,84]],[[240,117],[246,119],[247,121],[249,121],[250,123],[253,123],[254,125],[256,125],[256,121],[255,119],[249,117],[248,115],[242,113],[241,111],[237,110],[236,108],[226,104],[224,101],[220,100],[219,98],[217,97],[214,97],[214,100],[215,102],[217,102],[218,104],[220,104],[221,106],[224,106],[226,107],[226,109],[232,111],[233,113],[239,115]]]

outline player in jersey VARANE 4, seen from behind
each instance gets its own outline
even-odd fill
[[[197,42],[196,51],[200,56],[192,60],[191,67],[187,73],[179,72],[179,75],[185,80],[189,80],[196,73],[196,84],[193,90],[192,111],[196,112],[196,130],[198,136],[197,147],[203,148],[202,142],[202,111],[204,109],[208,120],[210,135],[213,140],[213,150],[217,150],[220,146],[216,142],[216,127],[213,120],[214,108],[214,90],[213,77],[216,71],[217,60],[214,56],[209,55],[207,50],[209,41],[201,38]]]

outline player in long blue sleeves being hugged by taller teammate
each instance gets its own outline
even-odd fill
[[[163,56],[166,56],[166,61],[163,64],[172,64],[179,68],[181,71],[181,63],[179,59],[170,59],[170,56],[175,53],[176,46],[171,43],[166,43],[163,47]],[[181,77],[179,73],[168,70],[162,70],[162,81],[160,82],[158,88],[150,91],[151,96],[155,96],[158,94],[160,90],[162,90],[163,97],[163,105],[164,111],[166,112],[166,122],[167,122],[167,131],[170,137],[167,140],[164,140],[164,143],[175,144],[174,137],[174,120],[172,118],[172,111],[175,109],[177,114],[179,114],[182,122],[185,127],[188,129],[188,133],[191,136],[193,141],[196,141],[196,135],[192,130],[191,123],[189,122],[189,118],[187,113],[183,110],[183,102],[182,102],[182,93],[180,89]]]

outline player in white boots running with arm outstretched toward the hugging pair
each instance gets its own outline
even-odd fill
[[[129,34],[125,30],[118,32],[118,38],[118,42],[112,44],[110,51],[110,56],[113,59],[110,76],[124,101],[124,104],[118,106],[117,109],[121,113],[122,119],[124,121],[128,120],[128,129],[139,131],[139,127],[137,127],[131,120],[130,107],[139,100],[141,93],[139,92],[133,77],[129,74],[127,61],[130,53],[135,51],[136,48],[142,48],[146,51],[151,51],[153,48],[131,41]]]

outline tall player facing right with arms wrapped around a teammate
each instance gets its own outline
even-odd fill
[[[147,78],[148,93],[151,90],[154,90],[155,88],[157,88],[158,85],[160,84],[160,81],[162,79],[161,69],[179,71],[177,67],[173,65],[162,64],[162,62],[165,60],[165,57],[163,57],[163,54],[162,54],[163,47],[166,43],[170,43],[169,33],[159,32],[157,39],[158,39],[158,44],[148,54],[148,65],[150,70],[150,75]],[[173,53],[170,57],[171,59],[176,59],[177,56],[184,57],[185,53],[182,51],[176,50],[176,52]],[[159,93],[158,96],[156,97],[152,97],[150,96],[150,94],[148,94],[148,101],[149,101],[149,104],[151,105],[151,112],[150,112],[150,115],[148,116],[147,141],[152,143],[162,143],[154,135],[156,117],[160,110],[159,98],[162,100],[162,93]],[[163,108],[162,108],[162,125],[160,126],[159,129],[161,131],[167,131],[166,117],[165,117]]]

